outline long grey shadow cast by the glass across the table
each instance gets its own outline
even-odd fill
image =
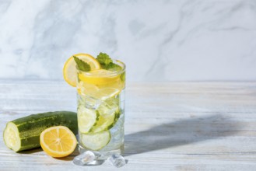
[[[216,114],[191,117],[125,135],[124,155],[135,155],[158,149],[188,145],[198,141],[236,134],[240,124]]]

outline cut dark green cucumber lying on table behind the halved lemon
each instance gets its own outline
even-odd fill
[[[4,141],[15,152],[40,147],[40,133],[48,127],[66,126],[77,134],[77,115],[69,111],[32,114],[9,121],[4,130]]]

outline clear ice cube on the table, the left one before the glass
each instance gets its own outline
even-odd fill
[[[78,166],[84,166],[89,162],[93,162],[94,159],[95,159],[94,153],[90,151],[86,151],[86,152],[83,152],[81,155],[77,155],[73,159],[73,163]]]

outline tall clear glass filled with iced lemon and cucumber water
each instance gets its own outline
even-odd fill
[[[113,62],[117,67],[110,70],[77,70],[79,152],[124,150],[125,65]]]

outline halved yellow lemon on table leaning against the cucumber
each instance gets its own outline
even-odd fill
[[[74,152],[75,134],[64,126],[49,127],[40,134],[40,145],[47,155],[61,158]]]

